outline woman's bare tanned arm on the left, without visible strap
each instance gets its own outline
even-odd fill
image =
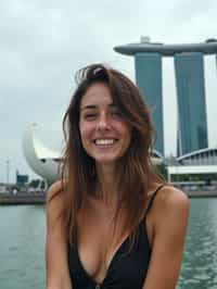
[[[47,289],[72,289],[67,265],[66,227],[61,215],[63,205],[61,183],[58,181],[50,187],[47,194]]]

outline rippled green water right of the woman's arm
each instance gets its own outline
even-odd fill
[[[180,289],[217,288],[217,199],[191,200]]]

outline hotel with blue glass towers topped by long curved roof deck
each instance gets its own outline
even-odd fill
[[[150,42],[148,37],[143,37],[139,43],[118,46],[114,50],[135,56],[137,85],[145,96],[148,105],[153,109],[153,122],[157,133],[155,150],[164,155],[162,77],[164,56],[173,56],[175,64],[178,103],[177,156],[207,148],[204,55],[217,55],[217,40],[163,45]]]

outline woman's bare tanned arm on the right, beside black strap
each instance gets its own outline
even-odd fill
[[[155,208],[158,211],[145,289],[174,289],[181,267],[189,200],[186,193],[175,188],[165,188],[164,192],[165,198]]]

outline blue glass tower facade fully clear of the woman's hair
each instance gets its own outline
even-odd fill
[[[208,147],[203,53],[175,58],[178,99],[178,146],[182,155]]]

